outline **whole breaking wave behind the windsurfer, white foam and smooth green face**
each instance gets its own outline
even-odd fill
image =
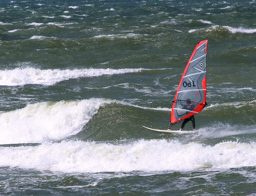
[[[212,134],[216,127],[224,132],[234,128],[232,135],[240,134],[243,130],[247,133],[244,125],[255,125],[255,106],[255,101],[211,104],[201,115],[196,116],[200,131],[195,134],[208,135],[209,131]],[[162,138],[166,135],[161,136],[145,130],[142,125],[167,127],[170,110],[102,98],[28,104],[22,109],[0,113],[0,144],[44,143],[63,139],[113,141]],[[245,118],[241,119],[241,116],[237,115],[241,112]],[[226,123],[227,126],[219,125],[220,123]],[[178,129],[179,126],[180,124],[177,124],[173,128]],[[189,130],[189,125],[185,128]],[[216,134],[215,137],[219,135],[221,134]],[[167,137],[173,138],[177,135]],[[177,139],[182,139],[182,135]],[[184,141],[191,141],[187,139]]]

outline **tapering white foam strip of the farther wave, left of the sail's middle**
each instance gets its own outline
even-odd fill
[[[38,39],[37,37],[32,37]],[[32,39],[31,38],[31,39]],[[40,39],[40,38],[39,38]],[[41,38],[42,39],[42,38]],[[0,70],[0,85],[15,86],[25,84],[53,85],[57,82],[79,77],[97,77],[102,75],[124,74],[141,72],[150,69],[35,69],[23,68],[13,70]]]

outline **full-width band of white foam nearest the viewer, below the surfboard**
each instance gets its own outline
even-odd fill
[[[165,139],[118,145],[63,141],[0,147],[0,166],[68,173],[228,169],[256,166],[255,151],[256,143],[231,141],[214,146]]]

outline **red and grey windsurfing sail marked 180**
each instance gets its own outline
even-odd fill
[[[198,114],[206,105],[207,42],[199,42],[182,74],[173,100],[170,122],[175,124]]]

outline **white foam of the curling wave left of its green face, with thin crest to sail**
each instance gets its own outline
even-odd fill
[[[87,99],[29,104],[25,108],[0,113],[0,144],[44,143],[75,135],[105,104],[150,108],[109,99]]]

